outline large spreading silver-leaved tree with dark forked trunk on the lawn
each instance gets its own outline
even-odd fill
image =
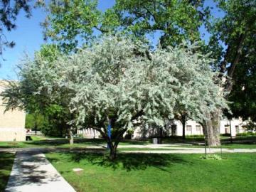
[[[215,83],[213,62],[196,53],[195,45],[156,48],[132,38],[104,36],[89,48],[49,61],[36,56],[23,65],[23,73],[41,81],[35,94],[49,100],[68,100],[76,127],[96,129],[110,146],[114,159],[124,132],[144,127],[164,127],[176,110],[203,122],[208,113],[226,107]],[[112,125],[112,137],[107,124]]]

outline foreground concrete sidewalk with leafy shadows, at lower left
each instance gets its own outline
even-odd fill
[[[6,192],[75,192],[58,171],[36,151],[18,151]]]

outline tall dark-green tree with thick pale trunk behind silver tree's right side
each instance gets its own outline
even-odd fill
[[[229,93],[233,88],[234,78],[242,78],[242,76],[235,77],[240,65],[245,65],[245,60],[254,62],[256,2],[250,0],[219,0],[216,2],[218,8],[225,15],[223,18],[214,19],[206,25],[212,34],[208,48],[213,51],[213,58],[218,61],[220,73],[228,75],[228,77],[220,75],[219,78],[224,82],[225,92]],[[206,131],[213,139],[214,145],[220,144],[217,134],[221,114],[221,110],[209,114],[211,120],[204,123],[208,127]]]

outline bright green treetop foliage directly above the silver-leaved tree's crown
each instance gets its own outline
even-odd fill
[[[104,13],[97,9],[97,3],[52,1],[43,23],[46,38],[70,52],[84,43],[90,45],[102,33],[122,31],[144,39],[146,34],[160,31],[161,46],[178,46],[182,41],[200,40],[199,27],[209,14],[208,9],[203,9],[203,1],[117,0]]]

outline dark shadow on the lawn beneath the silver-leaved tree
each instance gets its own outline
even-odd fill
[[[175,154],[118,154],[117,159],[110,160],[108,154],[102,153],[86,153],[86,152],[69,152],[63,154],[68,156],[67,161],[82,164],[92,164],[111,169],[144,170],[148,167],[156,167],[163,171],[171,164],[191,164]],[[62,156],[62,155],[61,155]],[[58,161],[58,159],[50,159],[50,161]]]

